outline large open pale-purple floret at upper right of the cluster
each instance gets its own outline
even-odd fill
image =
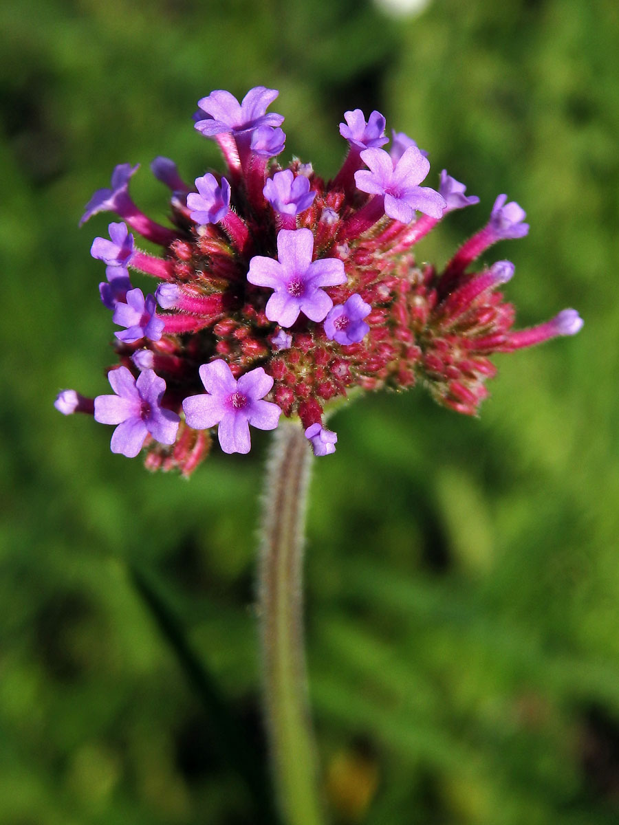
[[[357,188],[385,196],[385,214],[390,218],[409,224],[415,210],[441,218],[445,200],[428,186],[418,186],[428,175],[430,164],[416,146],[409,146],[395,166],[385,149],[366,149],[361,160],[370,171],[355,172]]]

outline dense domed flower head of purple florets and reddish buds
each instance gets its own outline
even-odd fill
[[[352,389],[420,384],[443,406],[475,415],[495,353],[582,327],[564,309],[513,329],[515,310],[499,291],[513,263],[480,256],[527,234],[515,201],[499,196],[445,266],[421,265],[416,243],[479,199],[445,170],[437,189],[420,186],[427,153],[395,131],[390,152],[381,148],[377,111],[368,120],[359,109],[345,113],[348,153],[332,181],[296,158],[278,163],[283,117],[267,113],[276,97],[255,87],[240,103],[223,90],[201,98],[196,130],[217,141],[227,168],[187,186],[172,160],[155,158],[152,172],[171,191],[171,226],[131,200],[138,167],[128,163],[87,204],[83,221],[104,210],[122,220],[109,225],[110,240],[92,243],[106,265],[103,303],[123,328],[108,373],[115,394],[63,390],[55,406],[116,425],[112,450],[142,450],[149,469],[191,474],[215,435],[224,452],[247,453],[250,427],[272,430],[282,416],[300,420],[314,455],[333,454],[338,436],[324,422]],[[141,251],[129,228],[161,254]],[[129,271],[154,279],[152,290],[134,287]]]

